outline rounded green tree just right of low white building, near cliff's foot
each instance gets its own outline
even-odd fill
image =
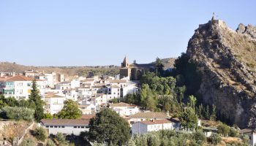
[[[186,128],[197,127],[197,114],[195,113],[195,110],[192,109],[192,107],[187,107],[187,109],[181,113],[179,119],[181,120],[181,125]]]

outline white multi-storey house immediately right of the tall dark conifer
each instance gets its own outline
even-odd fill
[[[64,101],[66,98],[64,95],[48,93],[45,95],[45,112],[50,115],[56,114],[64,107]]]

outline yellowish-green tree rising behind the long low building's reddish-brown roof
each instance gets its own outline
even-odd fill
[[[56,117],[61,119],[78,119],[82,116],[78,104],[71,99],[64,101],[63,109],[57,113]]]

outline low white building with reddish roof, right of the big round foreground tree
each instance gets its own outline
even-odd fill
[[[145,134],[150,131],[173,130],[180,128],[177,120],[143,120],[132,124],[132,134]]]

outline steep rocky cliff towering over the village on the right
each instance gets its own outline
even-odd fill
[[[222,20],[200,25],[187,55],[202,73],[198,93],[217,113],[241,128],[256,127],[256,27],[236,31]]]

